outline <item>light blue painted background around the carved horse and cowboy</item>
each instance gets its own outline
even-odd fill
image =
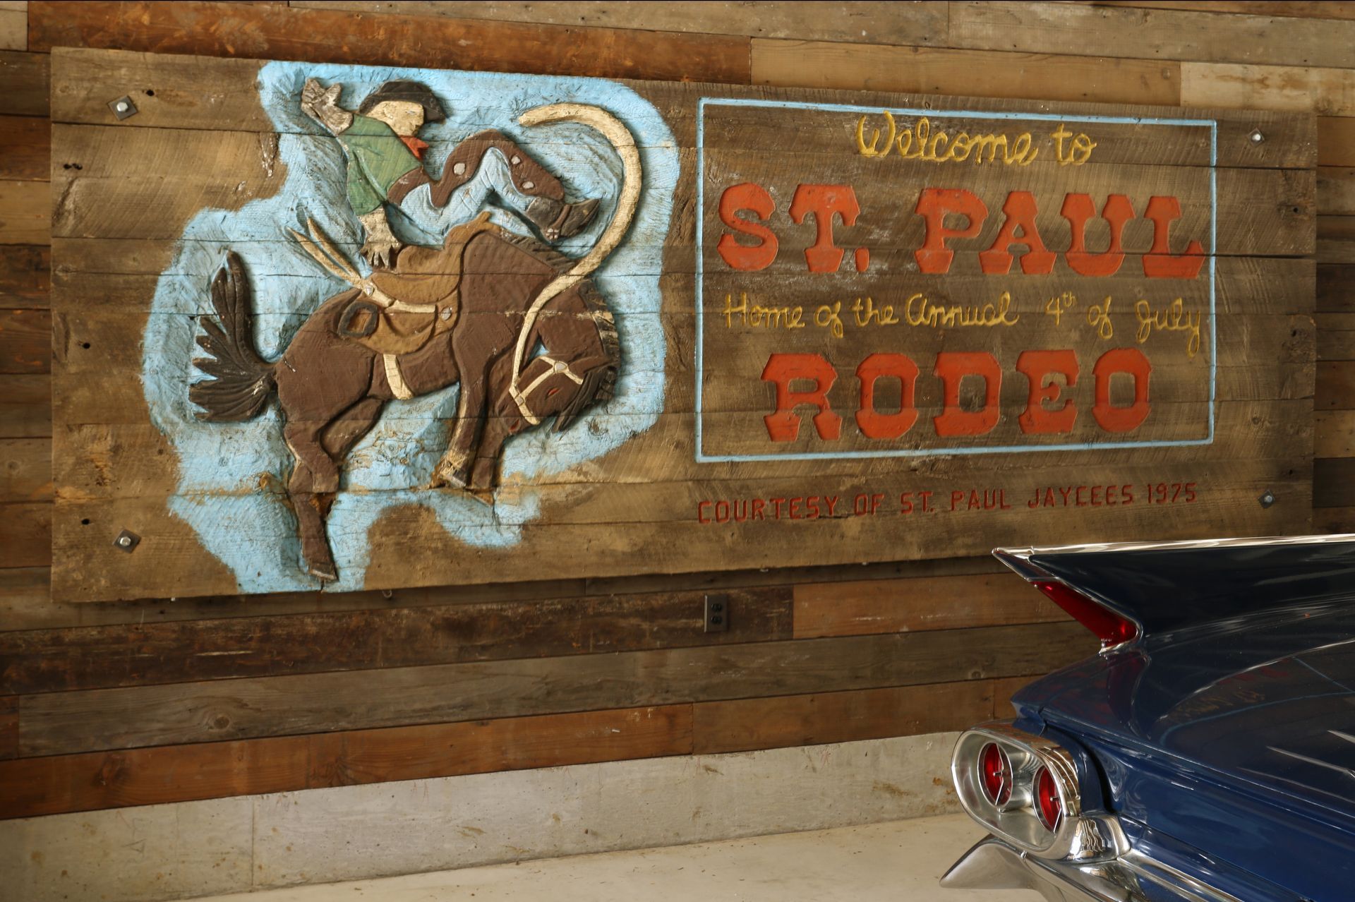
[[[553,433],[547,423],[509,439],[501,482],[516,488],[500,492],[493,507],[458,492],[421,488],[446,447],[457,386],[386,405],[381,421],[350,455],[344,490],[329,515],[329,540],[340,578],[327,589],[362,588],[369,562],[367,530],[397,505],[428,508],[449,532],[472,546],[516,543],[522,524],[539,513],[534,479],[593,459],[648,429],[664,400],[659,274],[679,160],[672,133],[652,104],[625,85],[598,79],[270,62],[260,70],[259,93],[279,133],[286,181],[274,198],[252,200],[238,211],[202,210],[190,221],[157,283],[142,356],[152,421],[179,455],[179,486],[168,501],[169,509],[234,572],[243,592],[313,589],[318,581],[299,566],[295,520],[280,494],[291,454],[282,440],[276,405],[270,404],[263,416],[248,423],[207,424],[194,417],[187,393],[188,383],[201,378],[191,366],[199,353],[194,316],[210,309],[207,284],[228,249],[240,255],[249,274],[255,344],[270,360],[282,353],[310,312],[347,287],[324,274],[286,233],[289,228],[305,232],[305,219],[312,217],[358,260],[360,230],[344,199],[343,153],[299,108],[301,85],[308,77],[343,83],[340,104],[350,110],[392,79],[417,80],[432,88],[447,112],[447,122],[420,131],[432,145],[425,165],[435,176],[457,141],[493,127],[560,175],[572,198],[603,198],[592,226],[557,245],[570,256],[581,256],[606,228],[621,188],[619,160],[606,138],[585,126],[523,129],[516,125],[518,115],[560,102],[602,107],[631,130],[644,164],[644,191],[630,233],[593,276],[621,333],[615,398],[588,412],[566,432]],[[493,218],[530,233],[504,210],[495,210]],[[397,233],[427,242],[401,223],[398,214],[392,221]]]

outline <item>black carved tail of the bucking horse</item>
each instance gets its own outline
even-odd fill
[[[249,328],[249,284],[244,267],[234,253],[211,280],[211,306],[215,317],[201,317],[206,335],[198,347],[209,358],[195,358],[192,366],[210,379],[188,386],[188,400],[202,408],[199,420],[240,423],[252,420],[268,404],[276,387],[274,364],[259,356]]]

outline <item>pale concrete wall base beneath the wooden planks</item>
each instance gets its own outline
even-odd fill
[[[157,902],[951,813],[957,735],[5,821],[0,895]]]

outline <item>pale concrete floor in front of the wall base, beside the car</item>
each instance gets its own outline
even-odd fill
[[[211,897],[220,902],[1038,902],[1026,890],[942,890],[984,832],[965,815],[638,852],[496,864]],[[205,899],[199,902],[211,902]]]

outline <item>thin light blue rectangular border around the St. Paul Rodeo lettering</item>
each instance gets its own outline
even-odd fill
[[[892,112],[897,115],[970,119],[1020,119],[1035,122],[1106,122],[1111,125],[1164,125],[1209,127],[1209,435],[1203,439],[1175,439],[1163,442],[1084,442],[1075,444],[1020,444],[986,448],[896,448],[879,451],[797,451],[793,454],[703,454],[702,442],[702,383],[705,381],[705,260],[702,230],[706,202],[706,107],[768,107],[779,110],[829,110],[841,112]],[[1026,454],[1033,451],[1095,451],[1099,448],[1169,448],[1214,443],[1214,406],[1218,378],[1218,322],[1214,299],[1214,257],[1218,238],[1218,121],[1217,119],[1157,119],[1152,116],[1092,116],[1058,115],[1051,112],[984,112],[980,110],[912,110],[859,107],[839,103],[805,103],[795,100],[757,100],[734,98],[698,98],[696,100],[696,462],[725,463],[734,460],[843,460],[852,458],[920,458],[957,454]]]

